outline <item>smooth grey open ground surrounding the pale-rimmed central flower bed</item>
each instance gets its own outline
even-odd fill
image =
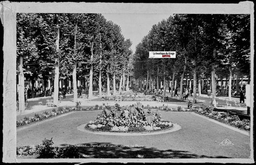
[[[88,155],[88,158],[136,158],[138,154],[144,155],[144,158],[249,158],[250,156],[249,136],[191,113],[161,112],[162,119],[177,123],[182,129],[159,135],[96,135],[76,129],[78,125],[96,119],[98,113],[99,111],[75,112],[54,120],[45,120],[22,130],[18,128],[17,146],[41,144],[44,138],[52,138],[55,146],[83,144],[84,146],[79,149]],[[224,139],[232,141],[234,145],[219,145]],[[95,146],[91,146],[92,144]]]

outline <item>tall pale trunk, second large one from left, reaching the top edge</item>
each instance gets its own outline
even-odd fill
[[[59,42],[60,42],[60,26],[59,26],[59,20],[60,20],[60,14],[57,14],[57,38],[56,38],[56,58],[55,58],[55,71],[54,71],[54,95],[53,95],[53,104],[58,106],[58,98],[59,98],[59,65],[60,65],[60,48],[59,48]]]

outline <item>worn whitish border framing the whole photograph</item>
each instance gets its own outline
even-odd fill
[[[250,159],[16,159],[16,13],[191,13],[250,14],[251,91],[254,91],[254,3],[86,3],[86,2],[9,2],[0,4],[4,26],[3,63],[3,162],[177,162],[177,163],[253,163],[253,92],[251,92],[251,158]],[[171,15],[170,14],[170,15]]]

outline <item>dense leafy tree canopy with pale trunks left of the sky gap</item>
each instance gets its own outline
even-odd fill
[[[73,81],[74,103],[77,80],[88,88],[89,97],[93,87],[101,95],[103,84],[110,94],[110,80],[116,79],[119,86],[128,84],[120,79],[130,74],[131,45],[120,26],[102,14],[17,13],[17,80],[20,88],[24,88],[23,76],[31,81],[32,97],[36,80],[42,80],[44,88],[48,80],[54,80],[55,105],[60,80],[66,87],[67,80]],[[19,99],[23,97],[20,94]]]

